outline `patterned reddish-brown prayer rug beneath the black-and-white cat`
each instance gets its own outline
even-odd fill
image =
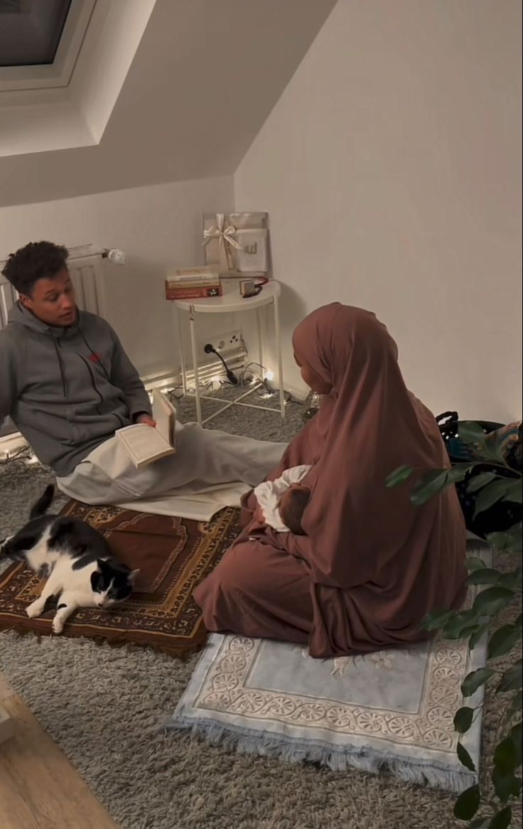
[[[239,535],[239,510],[224,509],[209,523],[78,502],[69,502],[61,514],[87,521],[104,534],[115,555],[140,570],[127,602],[109,612],[78,610],[61,636],[146,645],[177,657],[205,641],[192,591]],[[0,630],[51,635],[52,609],[37,619],[25,612],[43,584],[22,564],[0,574]]]

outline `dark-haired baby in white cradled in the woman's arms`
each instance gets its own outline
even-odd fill
[[[295,536],[305,535],[302,518],[311,496],[309,487],[302,480],[310,466],[285,469],[281,478],[264,481],[254,489],[259,511],[267,526],[277,532],[293,532]]]

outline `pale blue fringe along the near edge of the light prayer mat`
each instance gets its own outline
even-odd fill
[[[288,739],[271,734],[261,736],[259,731],[237,725],[219,725],[214,720],[195,722],[185,717],[177,717],[176,720],[167,720],[162,729],[166,734],[168,731],[189,732],[192,736],[205,738],[212,745],[220,745],[230,751],[235,750],[238,754],[276,757],[286,763],[317,763],[336,772],[355,768],[358,771],[377,774],[381,770],[389,769],[405,783],[428,783],[433,788],[441,788],[447,792],[460,793],[477,783],[477,775],[468,772],[464,767],[462,771],[457,772],[429,760],[408,763],[392,752],[377,755],[368,749],[354,749],[349,745],[335,749],[332,744],[318,740]]]

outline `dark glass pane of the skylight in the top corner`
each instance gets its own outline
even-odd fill
[[[0,0],[0,66],[49,65],[71,0]]]

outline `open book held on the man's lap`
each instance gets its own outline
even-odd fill
[[[137,469],[176,452],[176,416],[172,403],[160,390],[154,389],[153,419],[156,420],[156,429],[137,423],[124,426],[115,433]]]

